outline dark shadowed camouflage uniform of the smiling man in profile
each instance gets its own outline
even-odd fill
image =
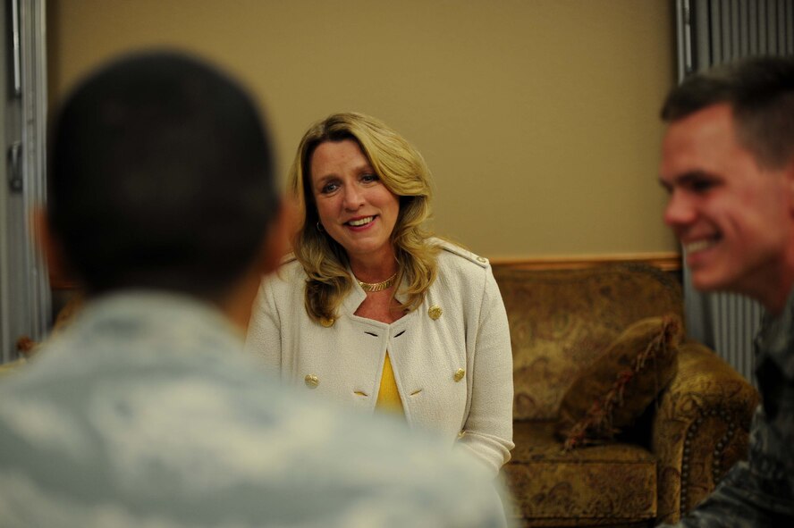
[[[678,526],[790,526],[794,523],[794,291],[782,314],[756,336],[762,405],[750,428],[748,461]]]

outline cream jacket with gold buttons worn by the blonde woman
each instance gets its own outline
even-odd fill
[[[496,474],[514,447],[502,296],[486,258],[434,241],[443,248],[435,282],[422,306],[391,324],[354,315],[366,298],[356,281],[332,326],[312,321],[307,275],[288,259],[262,282],[246,350],[317,398],[367,412],[375,409],[388,350],[410,426],[442,432]]]

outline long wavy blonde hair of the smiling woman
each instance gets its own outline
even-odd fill
[[[415,310],[435,281],[439,248],[427,242],[424,227],[430,217],[430,171],[422,155],[405,138],[374,117],[363,113],[334,113],[312,125],[300,140],[292,163],[289,187],[302,219],[292,248],[308,275],[306,311],[312,319],[335,319],[336,311],[352,287],[350,264],[344,248],[318,229],[319,216],[311,185],[311,156],[326,141],[355,141],[386,189],[400,201],[392,231],[392,245],[404,281],[402,308]],[[393,296],[394,297],[394,294]]]

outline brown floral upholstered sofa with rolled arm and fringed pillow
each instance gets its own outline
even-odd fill
[[[516,447],[503,472],[519,524],[672,522],[746,456],[756,390],[675,323],[676,277],[645,264],[496,265],[494,275],[513,348]],[[660,329],[645,331],[647,346],[629,330],[638,324]],[[642,350],[627,359],[631,348]],[[604,363],[617,349],[617,363]],[[603,395],[593,392],[596,378]],[[576,416],[569,402],[583,399]],[[585,425],[566,436],[563,418]]]

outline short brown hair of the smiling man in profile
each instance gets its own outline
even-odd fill
[[[688,77],[667,96],[662,119],[722,103],[731,105],[739,141],[758,163],[779,169],[794,159],[794,58],[753,57]]]

